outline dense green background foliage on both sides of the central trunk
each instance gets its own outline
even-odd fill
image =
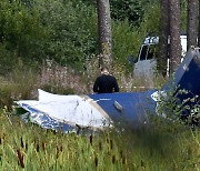
[[[151,28],[158,30],[159,23],[152,18],[146,18],[149,12],[144,12],[148,11],[144,8],[149,2],[142,2],[146,4],[142,8],[139,1],[127,1],[123,11],[119,11],[119,2],[111,1],[111,4],[116,4],[111,9],[114,13],[113,58],[116,63],[128,66],[128,57],[137,57],[143,37],[154,32],[147,27],[151,24]],[[157,6],[156,2],[152,6]],[[128,12],[127,8],[132,12]],[[89,1],[2,0],[0,9],[1,74],[13,70],[19,58],[26,64],[40,64],[47,58],[53,59],[62,66],[82,71],[88,67],[86,60],[98,54],[97,11],[96,4]],[[158,13],[156,10],[152,12]],[[136,13],[138,17],[133,18]],[[120,19],[114,19],[114,16]],[[143,31],[140,31],[141,28]]]

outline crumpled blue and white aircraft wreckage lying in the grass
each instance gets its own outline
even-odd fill
[[[187,94],[178,94],[177,100],[183,102],[197,97],[189,105],[200,105],[200,52],[192,48],[174,73],[174,78],[161,90],[143,92],[119,92],[88,95],[61,95],[38,90],[38,100],[16,101],[24,109],[22,117],[44,129],[70,132],[77,128],[93,130],[111,127],[118,121],[140,124],[148,121],[149,114],[157,114],[159,97],[169,93],[170,89],[187,90]],[[177,89],[178,88],[178,89]]]

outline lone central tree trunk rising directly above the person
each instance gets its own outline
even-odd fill
[[[112,67],[111,17],[109,0],[97,0],[100,64]]]

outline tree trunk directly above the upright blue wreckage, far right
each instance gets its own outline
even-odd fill
[[[197,46],[197,0],[188,0],[187,50]]]

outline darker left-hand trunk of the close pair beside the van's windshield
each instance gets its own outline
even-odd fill
[[[162,74],[166,77],[167,74],[167,60],[169,56],[169,46],[168,46],[168,37],[169,37],[169,0],[160,0],[160,51],[159,51],[159,70],[162,71]]]

